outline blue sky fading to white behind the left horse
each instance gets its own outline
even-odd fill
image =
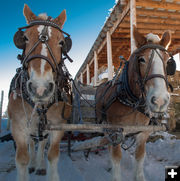
[[[115,0],[2,0],[0,6],[0,90],[5,91],[3,110],[7,106],[11,78],[16,68],[20,66],[16,57],[21,51],[14,46],[13,35],[18,27],[26,25],[23,16],[25,3],[36,15],[47,13],[53,18],[66,9],[67,21],[63,29],[71,35],[73,47],[69,55],[74,60],[72,64],[67,63],[67,66],[74,76],[98,36]]]

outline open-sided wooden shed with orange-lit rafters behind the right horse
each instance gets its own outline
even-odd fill
[[[180,53],[179,0],[119,0],[75,78],[81,83],[97,86],[103,81],[99,74],[106,70],[105,80],[111,80],[114,71],[120,65],[119,56],[128,59],[136,48],[132,36],[133,25],[136,25],[144,35],[154,33],[161,37],[164,31],[170,30],[172,42],[168,50],[173,55]],[[177,84],[179,78],[179,71],[176,71],[174,77],[170,77],[176,86],[175,97],[177,97],[172,100],[178,103],[180,103]]]

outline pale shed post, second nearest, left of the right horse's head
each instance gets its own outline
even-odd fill
[[[112,67],[112,46],[111,46],[111,34],[107,31],[107,62],[108,62],[108,80],[113,78],[113,67]]]

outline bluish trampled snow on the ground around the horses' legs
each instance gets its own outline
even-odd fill
[[[149,142],[146,145],[144,171],[147,181],[164,181],[165,166],[180,165],[180,140],[172,139],[172,135],[161,133],[165,139]],[[122,181],[133,181],[134,148],[123,151],[121,161]],[[0,181],[14,181],[16,168],[13,142],[0,143]],[[107,150],[99,153],[91,152],[88,161],[83,152],[62,152],[59,162],[61,181],[110,181],[111,172]],[[30,181],[44,181],[44,176],[30,175]]]

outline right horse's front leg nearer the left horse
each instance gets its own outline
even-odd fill
[[[120,161],[122,158],[121,146],[110,146],[112,162],[112,181],[121,181]]]

